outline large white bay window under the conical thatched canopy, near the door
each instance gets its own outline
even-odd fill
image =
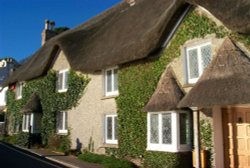
[[[185,111],[148,113],[148,150],[191,150],[191,118]]]

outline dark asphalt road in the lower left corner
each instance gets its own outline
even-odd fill
[[[23,152],[0,142],[1,168],[66,168],[42,157]]]

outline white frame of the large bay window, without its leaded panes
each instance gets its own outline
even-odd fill
[[[163,111],[163,112],[148,112],[147,114],[147,150],[150,151],[164,151],[164,152],[185,152],[191,151],[191,141],[189,144],[180,144],[180,120],[179,114],[186,113],[188,114],[189,121],[191,122],[190,113],[186,111]],[[150,116],[152,114],[158,115],[158,135],[159,135],[159,143],[151,143],[150,142],[150,129],[151,122]],[[163,144],[162,143],[162,114],[171,114],[171,144]],[[191,123],[190,123],[191,124]],[[189,128],[191,130],[191,128]],[[191,137],[189,137],[191,139]]]

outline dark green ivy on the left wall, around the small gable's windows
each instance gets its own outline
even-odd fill
[[[56,91],[56,72],[51,71],[46,76],[25,83],[22,98],[15,99],[15,92],[8,91],[7,115],[11,132],[19,132],[22,126],[21,109],[27,103],[32,93],[40,97],[42,105],[41,136],[44,145],[56,133],[56,112],[69,110],[78,104],[89,79],[70,71],[68,90],[64,93]]]

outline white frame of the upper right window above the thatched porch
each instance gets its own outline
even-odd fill
[[[186,82],[188,84],[193,84],[193,83],[196,83],[199,79],[199,77],[202,75],[204,69],[202,67],[202,56],[201,56],[201,47],[204,47],[204,46],[207,46],[207,45],[210,45],[211,48],[212,48],[212,45],[211,45],[211,42],[205,42],[205,43],[202,43],[202,44],[198,44],[198,45],[195,45],[195,46],[190,46],[190,47],[185,47],[185,60],[186,60]],[[198,77],[197,78],[190,78],[190,63],[189,63],[189,52],[190,50],[194,50],[196,49],[197,50],[197,57],[198,57]],[[211,56],[212,58],[212,52],[211,52]]]

